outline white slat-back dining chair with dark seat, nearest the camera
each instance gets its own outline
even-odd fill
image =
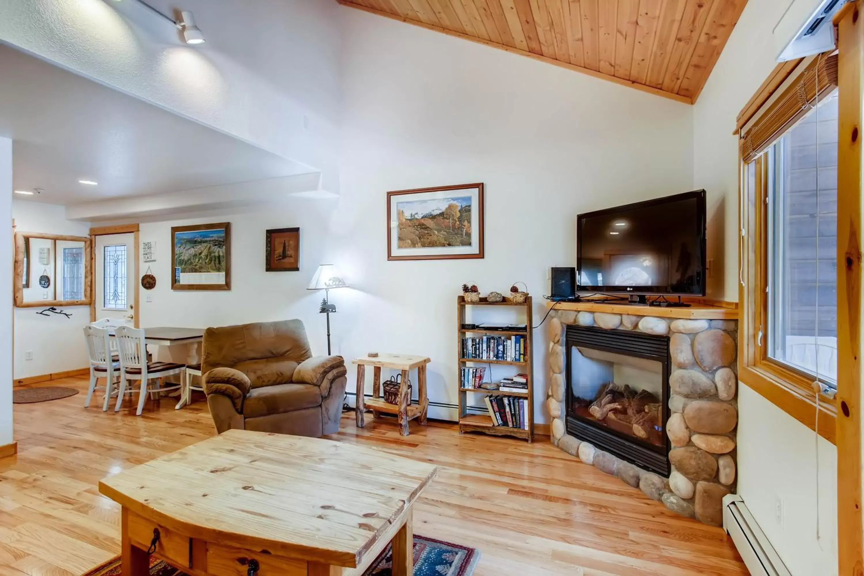
[[[118,351],[120,353],[120,391],[117,407],[114,408],[115,412],[123,404],[126,384],[130,380],[141,381],[141,388],[138,393],[138,410],[136,413],[139,416],[143,412],[144,402],[147,401],[148,393],[158,393],[181,388],[180,384],[168,386],[167,388],[164,387],[165,377],[181,374],[186,369],[186,365],[174,362],[148,362],[147,344],[144,341],[143,330],[130,326],[118,326],[114,329],[114,338],[117,340]],[[158,379],[160,386],[148,389],[150,379]],[[182,380],[183,378],[181,377]]]

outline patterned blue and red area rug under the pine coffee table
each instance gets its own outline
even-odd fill
[[[414,536],[414,576],[471,576],[480,550],[459,544]],[[391,576],[391,547],[388,546],[363,576]],[[82,576],[120,576],[120,557],[108,560]],[[150,576],[186,576],[162,560],[150,560]]]

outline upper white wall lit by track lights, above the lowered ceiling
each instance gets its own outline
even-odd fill
[[[338,192],[338,4],[184,0],[182,8],[194,11],[206,44],[187,47],[136,3],[103,0],[4,1],[0,41],[306,163]]]

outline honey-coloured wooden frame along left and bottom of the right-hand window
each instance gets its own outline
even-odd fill
[[[768,356],[768,198],[769,169],[767,151],[753,161],[740,159],[740,280],[741,308],[738,336],[738,377],[766,400],[797,421],[818,431],[832,444],[835,440],[837,402],[827,396],[818,399],[814,377]],[[761,332],[761,339],[759,336]]]

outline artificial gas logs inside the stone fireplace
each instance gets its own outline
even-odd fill
[[[662,404],[648,390],[604,383],[594,399],[576,397],[573,410],[621,433],[663,446]]]

